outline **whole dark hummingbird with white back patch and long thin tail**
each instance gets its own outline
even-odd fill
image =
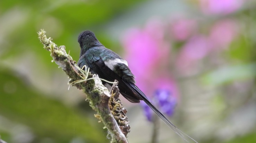
[[[101,79],[107,81],[117,80],[120,93],[128,101],[139,103],[143,100],[174,132],[185,141],[193,140],[190,136],[174,126],[155,106],[148,100],[147,96],[135,85],[135,76],[128,67],[128,62],[117,53],[104,47],[89,30],[83,31],[78,36],[80,45],[80,56],[77,65],[84,65],[90,69],[92,74],[97,74]],[[103,82],[104,83],[104,82]],[[110,84],[110,83],[108,83]],[[110,84],[111,85],[111,84]],[[197,143],[197,142],[196,142]]]

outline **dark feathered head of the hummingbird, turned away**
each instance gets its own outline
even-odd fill
[[[86,30],[79,34],[78,43],[80,44],[81,50],[88,50],[89,48],[102,45],[96,38],[92,31]]]

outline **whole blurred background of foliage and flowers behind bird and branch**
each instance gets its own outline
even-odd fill
[[[255,143],[255,9],[255,0],[1,0],[0,139],[109,142],[36,33],[45,29],[78,61],[77,37],[88,29],[128,61],[139,88],[197,142]],[[121,101],[129,142],[183,142],[145,104]]]

